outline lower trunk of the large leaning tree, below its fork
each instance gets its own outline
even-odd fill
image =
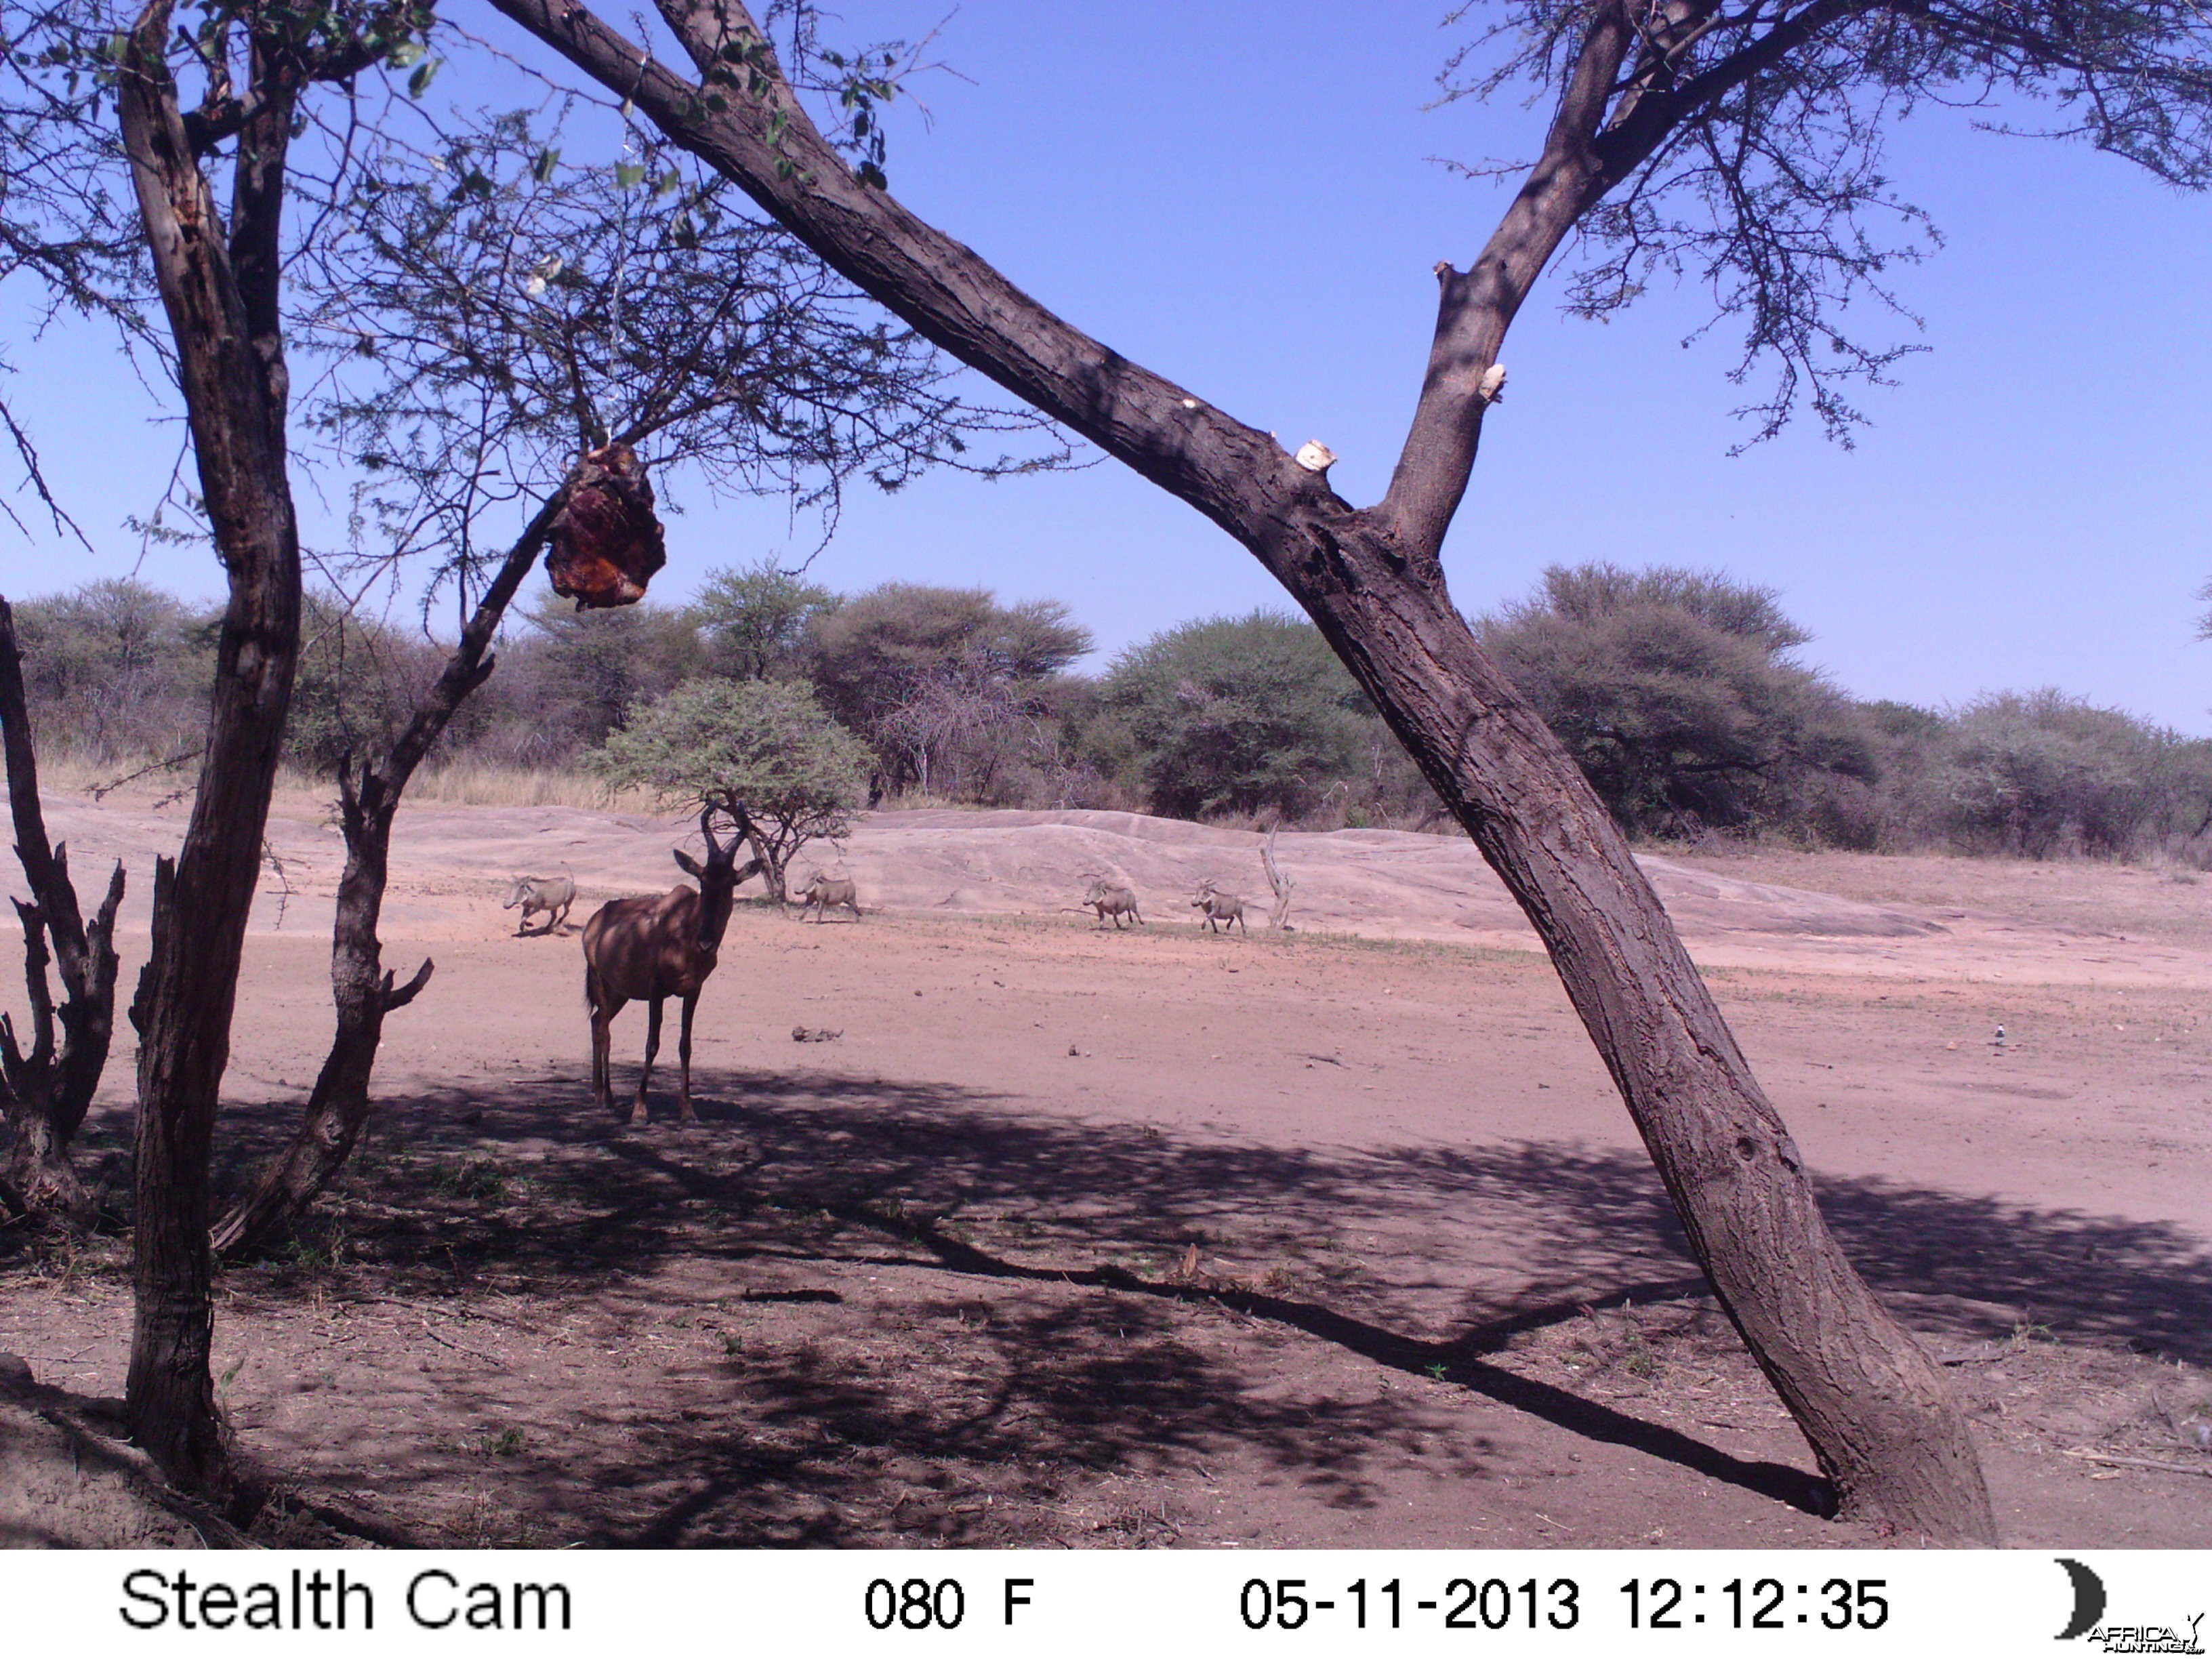
[[[1836,1493],[1995,1540],[1964,1418],[1829,1234],[1781,1115],[1613,814],[1442,584],[1385,582],[1374,533],[1276,549],[1294,588],[1544,938],[1699,1265]]]

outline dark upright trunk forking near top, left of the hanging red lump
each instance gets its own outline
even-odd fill
[[[199,790],[177,856],[155,863],[153,953],[131,1004],[139,1108],[128,1409],[133,1438],[170,1482],[243,1511],[252,1482],[232,1460],[208,1371],[208,1152],[299,659],[290,383],[276,310],[296,66],[254,38],[259,102],[237,131],[226,234],[164,62],[168,22],[168,0],[139,15],[117,75],[117,117],[230,604]]]

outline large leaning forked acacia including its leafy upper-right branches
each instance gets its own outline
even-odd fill
[[[1506,330],[1559,246],[1599,259],[1571,296],[1606,312],[1655,263],[1697,265],[1832,427],[1840,387],[1891,352],[1836,327],[1876,288],[1874,166],[1920,95],[2051,97],[2062,133],[2177,184],[2212,177],[2212,38],[2192,0],[1509,0],[1471,88],[1533,80],[1542,150],[1467,270],[1440,263],[1436,338],[1380,502],[1130,363],[916,219],[825,142],[737,0],[659,0],[690,75],[577,0],[493,0],[708,159],[927,338],[1051,411],[1234,535],[1314,617],[1544,938],[1750,1352],[1851,1511],[1942,1537],[1995,1522],[1966,1425],[1920,1347],[1851,1270],[1787,1128],[1606,807],[1482,653],[1440,551],[1464,495]],[[1832,352],[1838,380],[1816,352]]]

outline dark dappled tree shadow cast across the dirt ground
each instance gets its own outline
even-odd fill
[[[1214,1307],[1825,1509],[1803,1469],[1734,1458],[1491,1358],[1593,1305],[1705,1292],[1641,1155],[1265,1148],[1057,1121],[938,1084],[750,1071],[695,1084],[703,1124],[688,1130],[617,1126],[566,1077],[414,1095],[383,1110],[347,1177],[354,1256],[400,1294],[498,1281],[619,1296],[661,1270],[706,1270],[737,1303],[821,1303],[834,1352],[812,1338],[732,1352],[701,1371],[697,1398],[650,1402],[644,1427],[613,1411],[566,1433],[533,1427],[546,1482],[617,1495],[591,1517],[597,1542],[1024,1542],[1022,1506],[1048,1504],[1066,1471],[1223,1442],[1329,1504],[1371,1502],[1365,1462],[1418,1409],[1254,1398],[1254,1378],[1197,1340]],[[241,1164],[290,1128],[276,1108],[234,1126]],[[2212,1259],[2181,1228],[1871,1179],[1823,1181],[1820,1197],[1876,1290],[1938,1340],[2033,1321],[2212,1358]],[[1371,1259],[1347,1245],[1354,1230],[1378,1241]],[[1208,1270],[1177,1270],[1190,1243]],[[1409,1263],[1425,1279],[1407,1283]],[[838,1274],[865,1267],[947,1274],[951,1301],[843,1310]],[[285,1298],[288,1283],[268,1272],[252,1294]],[[947,1354],[918,1387],[916,1369]],[[487,1420],[529,1411],[489,1378],[460,1405]],[[1451,1447],[1469,1475],[1489,1453]],[[431,1460],[420,1480],[456,1469],[465,1460]]]

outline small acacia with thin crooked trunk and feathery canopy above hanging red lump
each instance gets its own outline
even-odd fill
[[[425,960],[396,984],[383,967],[392,821],[491,675],[493,635],[580,449],[650,449],[712,491],[827,513],[854,476],[894,489],[933,465],[1035,465],[969,460],[975,436],[1042,422],[960,398],[927,345],[860,312],[787,234],[730,212],[726,186],[688,177],[684,157],[646,144],[619,170],[564,168],[557,126],[524,113],[462,124],[431,155],[438,166],[396,139],[372,146],[305,250],[296,330],[330,365],[307,425],[363,469],[356,511],[374,526],[330,564],[372,588],[429,557],[425,593],[451,584],[476,604],[389,750],[336,765],[336,1033],[301,1126],[215,1225],[230,1254],[263,1248],[310,1206],[369,1121],[383,1020],[431,973]],[[529,500],[540,507],[522,535],[487,553],[484,524]],[[781,860],[770,885],[781,896]]]

